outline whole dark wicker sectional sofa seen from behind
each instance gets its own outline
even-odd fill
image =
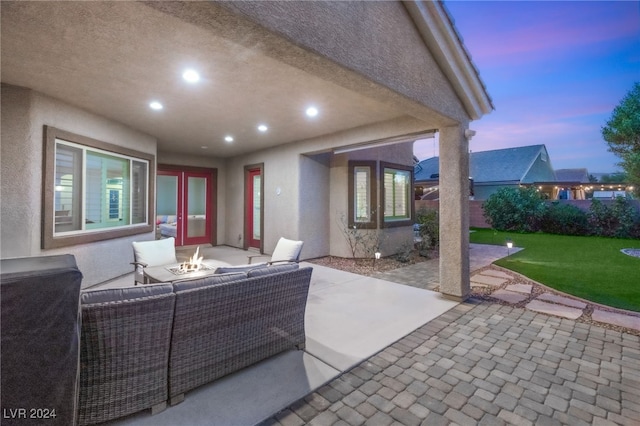
[[[78,423],[161,411],[189,390],[303,349],[312,268],[256,266],[84,292]]]

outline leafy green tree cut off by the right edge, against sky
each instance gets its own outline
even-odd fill
[[[640,83],[614,108],[611,118],[602,128],[602,137],[609,151],[620,157],[620,166],[627,173],[634,192],[640,195]]]

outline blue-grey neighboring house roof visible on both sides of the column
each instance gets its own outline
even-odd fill
[[[439,158],[421,161],[415,167],[415,181],[437,179]],[[544,145],[529,145],[492,151],[472,152],[469,155],[470,177],[477,183],[533,183],[552,181],[555,173]]]

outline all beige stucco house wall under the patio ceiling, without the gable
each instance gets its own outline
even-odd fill
[[[74,254],[85,275],[84,286],[131,272],[131,242],[153,239],[153,233],[56,250],[40,248],[44,124],[143,152],[156,151],[156,140],[151,136],[37,92],[3,86],[2,257]],[[340,212],[347,211],[346,161],[353,158],[411,165],[413,144],[340,155],[332,154],[331,149],[430,128],[415,118],[398,117],[229,160],[159,153],[157,163],[218,169],[218,244],[242,247],[244,167],[262,163],[265,252],[271,253],[278,238],[284,236],[305,241],[303,259],[328,254],[348,256],[337,220]],[[17,187],[12,182],[21,184]],[[393,253],[412,235],[409,227],[385,233],[389,236],[384,254]]]

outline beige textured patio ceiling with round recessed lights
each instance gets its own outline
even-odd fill
[[[230,157],[403,115],[259,45],[221,37],[222,28],[141,3],[3,1],[1,13],[3,83],[153,135],[159,151]],[[181,78],[188,67],[199,83]],[[164,109],[151,110],[151,100]],[[320,110],[315,119],[304,115],[311,104]],[[268,132],[257,131],[261,123]]]

